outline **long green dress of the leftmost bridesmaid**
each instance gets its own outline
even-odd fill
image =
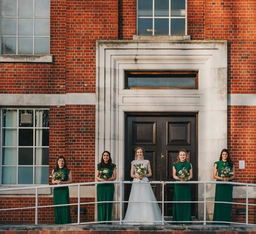
[[[68,180],[68,174],[70,169],[64,171],[63,168],[59,168],[65,175],[63,181]],[[67,187],[56,187],[53,188],[53,204],[54,205],[62,205],[62,204],[69,204],[69,190]],[[70,206],[57,206],[54,207],[54,214],[55,214],[55,223],[56,224],[67,224],[71,223],[71,215],[70,215]]]

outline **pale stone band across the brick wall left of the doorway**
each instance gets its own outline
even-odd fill
[[[0,94],[1,106],[95,105],[95,93]]]

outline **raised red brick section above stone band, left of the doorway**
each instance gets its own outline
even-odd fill
[[[66,92],[95,92],[95,42],[118,39],[118,1],[66,2]]]

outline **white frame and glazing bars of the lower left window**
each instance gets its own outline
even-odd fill
[[[16,110],[17,111],[17,127],[3,127],[3,110]],[[19,110],[33,110],[33,127],[19,127]],[[36,110],[49,110],[48,108],[1,108],[1,136],[2,136],[2,130],[3,129],[17,129],[17,145],[16,146],[3,146],[2,145],[2,139],[1,139],[1,157],[0,157],[0,185],[1,186],[32,186],[32,185],[48,185],[47,184],[35,184],[35,167],[48,167],[49,170],[49,165],[35,165],[35,149],[36,148],[49,148],[49,146],[35,146],[35,130],[37,129],[49,129],[49,127],[35,127],[35,111]],[[33,165],[19,165],[19,151],[18,148],[26,148],[28,146],[19,146],[19,132],[18,129],[33,129]],[[17,148],[17,158],[16,158],[16,165],[2,165],[2,149],[3,147],[16,147]],[[16,167],[16,184],[2,184],[2,167]],[[33,184],[18,184],[18,168],[19,167],[33,167]]]

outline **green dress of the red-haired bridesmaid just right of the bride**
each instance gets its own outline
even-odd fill
[[[174,163],[173,166],[176,169],[177,173],[182,170],[183,167],[189,170],[191,169],[191,164],[188,162],[178,162]],[[176,180],[180,181],[180,180]],[[174,197],[173,201],[191,201],[191,193],[190,193],[190,184],[186,182],[182,184],[174,184]],[[172,224],[191,224],[191,222],[182,222],[182,221],[192,221],[191,220],[191,203],[173,203],[173,221],[181,221],[181,222],[173,222]]]

